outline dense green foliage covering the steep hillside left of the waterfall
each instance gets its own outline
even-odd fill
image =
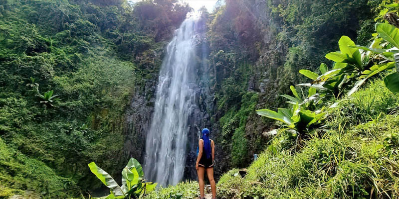
[[[0,164],[0,170],[7,171],[0,172],[1,186],[35,190],[41,197],[63,197],[69,191],[55,191],[77,186],[100,186],[87,162],[109,159],[102,166],[112,175],[116,172],[112,168],[123,166],[115,156],[123,148],[123,113],[133,88],[146,75],[136,63],[123,60],[135,60],[133,51],[141,56],[162,49],[163,43],[155,43],[152,33],[142,32],[135,23],[122,26],[133,14],[125,1],[0,0],[0,4],[0,138],[12,151],[4,155],[6,160],[26,158],[18,159],[18,164]],[[175,6],[152,4],[161,9]],[[172,30],[186,12],[179,9],[174,15],[177,10],[168,10],[175,18],[159,28]],[[124,48],[130,40],[137,45]],[[150,63],[154,72],[159,63],[152,63],[152,56],[147,53],[137,64]],[[50,92],[38,94],[39,85]],[[36,177],[37,172],[25,169],[28,164],[39,167],[37,172],[49,171]],[[70,191],[74,196],[78,192]]]

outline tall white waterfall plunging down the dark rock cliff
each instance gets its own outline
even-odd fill
[[[156,103],[147,135],[145,174],[160,185],[183,178],[187,156],[189,114],[197,107],[196,39],[200,16],[188,17],[167,47],[157,86]]]

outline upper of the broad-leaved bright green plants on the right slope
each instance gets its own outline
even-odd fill
[[[347,96],[351,96],[369,78],[395,67],[392,61],[398,49],[384,50],[380,38],[376,38],[370,47],[356,46],[347,36],[342,36],[338,43],[341,51],[326,55],[327,59],[335,62],[333,69],[329,71],[326,64],[321,64],[321,75],[309,70],[300,70],[299,73],[313,81],[298,86],[314,87],[321,90],[324,95],[338,98],[353,85],[347,93]],[[373,59],[379,61],[380,57],[386,61],[373,65]]]

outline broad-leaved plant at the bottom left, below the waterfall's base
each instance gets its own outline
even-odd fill
[[[131,158],[122,170],[122,186],[119,186],[111,175],[98,167],[94,162],[89,164],[89,168],[110,189],[110,195],[99,199],[138,199],[154,191],[157,186],[157,183],[145,182],[143,168],[134,158]]]

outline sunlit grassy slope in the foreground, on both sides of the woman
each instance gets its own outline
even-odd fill
[[[277,154],[268,151],[247,168],[244,178],[233,169],[217,184],[218,197],[267,199],[398,198],[398,145],[384,143],[399,130],[399,97],[380,79],[338,107],[328,108],[327,130],[307,140],[297,150],[295,140],[281,134],[274,139]],[[398,144],[398,143],[397,143]],[[198,196],[196,182],[181,183],[153,193],[151,199],[168,194]]]

